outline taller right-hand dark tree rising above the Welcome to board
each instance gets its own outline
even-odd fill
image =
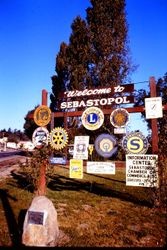
[[[124,0],[90,0],[87,9],[92,72],[97,86],[123,83],[133,69],[128,49]],[[96,77],[95,77],[96,76]]]

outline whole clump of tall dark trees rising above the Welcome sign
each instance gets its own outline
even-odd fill
[[[59,91],[123,83],[130,61],[125,0],[90,0],[86,20],[74,19],[69,44],[62,43],[52,77],[51,109]]]

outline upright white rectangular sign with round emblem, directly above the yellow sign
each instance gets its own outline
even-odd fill
[[[74,138],[74,159],[88,159],[89,136],[75,136]]]

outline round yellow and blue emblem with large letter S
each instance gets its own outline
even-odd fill
[[[148,140],[141,132],[131,132],[123,138],[122,146],[128,154],[145,154]]]

